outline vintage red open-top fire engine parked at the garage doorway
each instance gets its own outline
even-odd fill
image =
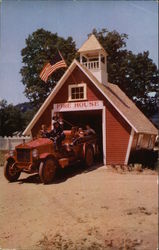
[[[90,167],[99,154],[96,135],[79,137],[73,141],[71,131],[64,131],[66,138],[60,150],[54,150],[48,138],[25,141],[10,151],[4,167],[8,181],[16,181],[21,172],[39,173],[44,184],[51,183],[57,168],[65,168],[81,161]]]

